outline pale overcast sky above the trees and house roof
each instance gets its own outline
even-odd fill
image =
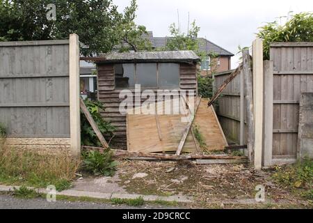
[[[124,10],[130,0],[113,0]],[[153,31],[154,36],[169,36],[168,26],[179,21],[182,31],[187,31],[188,13],[190,21],[200,26],[199,37],[236,54],[238,45],[250,46],[257,28],[264,22],[294,13],[313,11],[313,0],[137,0],[136,23]],[[238,56],[232,57],[232,68],[236,68]]]

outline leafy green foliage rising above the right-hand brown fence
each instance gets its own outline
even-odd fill
[[[269,46],[272,42],[312,42],[313,13],[291,15],[284,25],[268,22],[259,28],[258,38],[263,39],[264,59],[269,59]]]

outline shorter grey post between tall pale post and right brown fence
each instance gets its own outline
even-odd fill
[[[271,166],[273,151],[273,61],[264,61],[264,167]]]

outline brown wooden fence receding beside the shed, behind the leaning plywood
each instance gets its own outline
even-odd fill
[[[214,75],[214,88],[217,89],[223,84],[225,79],[234,70],[220,72]],[[227,140],[240,144],[240,91],[241,91],[241,75],[237,75],[230,84],[223,90],[222,95],[217,100],[216,114],[223,128]],[[244,115],[246,121],[246,114]],[[246,125],[245,125],[246,132]],[[243,134],[244,142],[246,142],[246,134]]]

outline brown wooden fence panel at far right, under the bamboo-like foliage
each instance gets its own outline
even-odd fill
[[[297,155],[301,92],[313,92],[313,43],[273,43],[273,160]]]

